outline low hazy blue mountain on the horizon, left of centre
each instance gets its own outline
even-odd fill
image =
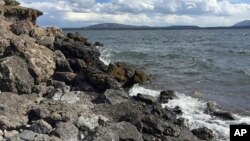
[[[136,25],[125,25],[117,23],[102,23],[83,27],[83,29],[144,29],[150,28],[149,26],[136,26]]]

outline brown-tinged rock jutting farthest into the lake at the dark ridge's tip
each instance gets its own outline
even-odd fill
[[[146,83],[150,80],[149,75],[135,66],[117,62],[109,64],[107,72],[124,86],[132,86],[136,83]]]

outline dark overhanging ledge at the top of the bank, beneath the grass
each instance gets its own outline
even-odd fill
[[[21,6],[4,6],[4,16],[12,23],[15,23],[16,21],[30,21],[35,24],[37,17],[41,16],[42,14],[43,13],[41,11],[31,8],[25,8]]]

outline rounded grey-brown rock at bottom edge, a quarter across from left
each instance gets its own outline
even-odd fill
[[[80,141],[80,132],[72,123],[58,123],[53,134],[63,141]]]

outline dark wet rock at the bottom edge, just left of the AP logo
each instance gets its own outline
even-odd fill
[[[201,140],[212,141],[214,139],[213,131],[206,127],[193,129],[192,133]]]

